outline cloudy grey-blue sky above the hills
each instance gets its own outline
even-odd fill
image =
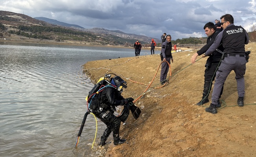
[[[225,14],[247,31],[256,24],[256,0],[0,0],[0,10],[172,40],[207,37],[204,25]]]

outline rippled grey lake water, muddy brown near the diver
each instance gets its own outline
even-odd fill
[[[87,111],[85,97],[93,87],[81,66],[133,56],[134,49],[126,48],[0,42],[0,156],[101,156],[97,143],[106,126],[97,120],[92,150],[96,125],[91,114],[75,147]]]

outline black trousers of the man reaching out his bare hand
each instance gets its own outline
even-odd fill
[[[210,90],[212,90],[212,83],[215,80],[216,77],[216,69],[218,68],[218,63],[211,64],[209,69],[205,69],[205,84],[203,86],[203,98],[208,97],[210,94]],[[209,92],[209,94],[208,94]],[[221,93],[219,95],[219,98],[221,97],[223,92],[223,87],[221,89]],[[208,94],[208,95],[207,95]]]

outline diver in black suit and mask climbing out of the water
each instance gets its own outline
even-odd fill
[[[101,146],[106,144],[106,140],[112,131],[115,145],[122,144],[126,141],[126,139],[120,139],[119,137],[121,120],[113,113],[115,111],[115,106],[123,106],[128,104],[129,101],[133,101],[132,98],[124,99],[123,96],[121,96],[122,89],[119,89],[122,87],[126,88],[126,82],[121,79],[121,77],[115,76],[112,78],[111,84],[113,87],[110,86],[104,88],[91,100],[91,106],[97,106],[93,107],[94,109],[92,110],[92,113],[107,126],[101,136],[101,142],[99,143]]]

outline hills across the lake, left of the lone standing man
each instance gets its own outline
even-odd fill
[[[57,42],[80,41],[91,45],[112,45],[133,47],[138,39],[143,44],[150,43],[151,37],[110,31],[103,28],[84,29],[77,25],[66,24],[53,19],[37,20],[24,14],[0,11],[0,33],[16,34],[23,37]],[[45,22],[45,21],[47,22]],[[53,24],[50,24],[50,23]],[[56,25],[57,24],[57,25]],[[22,29],[21,29],[22,28]],[[21,37],[22,38],[22,37]],[[157,40],[160,42],[160,40]]]

